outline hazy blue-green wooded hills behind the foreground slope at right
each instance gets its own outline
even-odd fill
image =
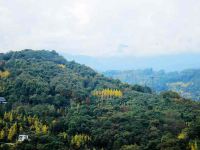
[[[147,85],[157,92],[172,90],[185,98],[200,100],[200,69],[169,73],[152,69],[107,71],[104,75],[129,84]]]

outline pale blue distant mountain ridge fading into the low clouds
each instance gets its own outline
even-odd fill
[[[152,57],[113,56],[93,57],[61,53],[68,60],[75,60],[100,72],[106,70],[135,70],[153,68],[166,71],[181,71],[187,68],[200,68],[199,53],[185,53]]]

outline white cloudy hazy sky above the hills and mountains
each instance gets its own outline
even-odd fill
[[[0,0],[0,52],[200,52],[200,0]]]

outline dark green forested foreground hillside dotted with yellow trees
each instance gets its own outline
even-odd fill
[[[1,54],[0,69],[0,97],[8,101],[0,104],[0,149],[200,147],[200,104],[175,92],[152,94],[148,87],[68,62],[55,51]],[[30,140],[17,142],[19,134]]]

